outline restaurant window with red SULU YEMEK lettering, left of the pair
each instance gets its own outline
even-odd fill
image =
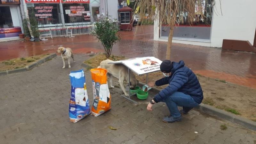
[[[38,25],[61,24],[59,4],[27,4],[29,17],[36,17]]]

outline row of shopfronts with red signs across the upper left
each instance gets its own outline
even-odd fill
[[[22,19],[35,17],[39,28],[89,25],[100,15],[118,19],[117,0],[0,0],[0,40],[19,38]]]

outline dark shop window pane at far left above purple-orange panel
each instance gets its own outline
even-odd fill
[[[13,28],[9,6],[0,6],[0,28]]]

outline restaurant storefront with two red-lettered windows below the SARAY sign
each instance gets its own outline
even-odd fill
[[[89,0],[25,0],[39,28],[91,23]]]

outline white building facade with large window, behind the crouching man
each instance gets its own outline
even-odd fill
[[[210,14],[206,15],[204,22],[175,27],[172,42],[221,47],[223,39],[233,39],[253,44],[256,28],[255,5],[255,0],[215,0],[214,3],[205,4],[205,10]],[[170,28],[158,24],[158,20],[155,20],[154,40],[168,41]]]

